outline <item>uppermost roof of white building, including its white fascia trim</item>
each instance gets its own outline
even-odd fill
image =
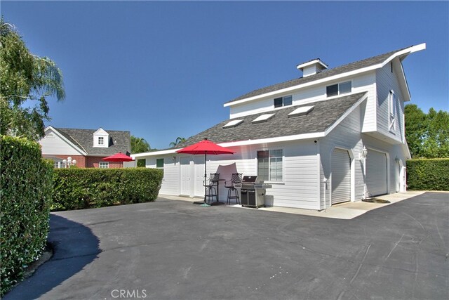
[[[232,105],[236,103],[239,100],[260,96],[265,93],[270,93],[273,91],[279,91],[281,89],[287,89],[293,86],[299,86],[300,84],[307,84],[311,83],[312,81],[319,81],[321,79],[326,79],[328,77],[333,77],[336,75],[353,72],[356,70],[361,70],[367,67],[374,67],[376,65],[381,65],[383,63],[387,63],[389,60],[396,56],[407,56],[408,53],[412,53],[414,51],[420,51],[422,48],[425,48],[425,44],[420,44],[417,46],[409,46],[406,48],[401,48],[396,51],[391,51],[388,53],[381,54],[380,56],[374,56],[372,58],[366,58],[364,60],[358,60],[354,63],[349,63],[347,65],[342,65],[340,67],[335,67],[333,69],[324,70],[322,72],[316,73],[314,75],[310,75],[307,77],[300,77],[296,79],[292,79],[289,81],[281,82],[280,84],[273,84],[271,86],[266,86],[262,89],[256,89],[254,91],[251,91],[249,93],[246,93],[242,96],[239,96],[237,98],[234,98],[233,100],[228,101],[225,103],[225,106]],[[404,52],[404,53],[403,53]]]

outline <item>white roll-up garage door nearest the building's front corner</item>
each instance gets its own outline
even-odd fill
[[[332,203],[351,200],[351,157],[347,150],[332,155]]]

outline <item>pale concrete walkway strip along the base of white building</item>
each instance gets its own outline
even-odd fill
[[[389,204],[394,204],[396,202],[400,202],[402,200],[409,199],[411,197],[415,197],[417,195],[424,194],[424,191],[408,191],[404,193],[395,193],[391,195],[383,195],[377,196],[376,199],[387,200],[390,203],[371,203],[371,202],[343,202],[340,204],[334,204],[332,207],[328,209],[324,209],[322,211],[315,211],[311,209],[297,209],[292,207],[261,207],[260,211],[277,211],[283,212],[286,214],[301,214],[303,216],[319,216],[322,218],[332,218],[332,219],[354,219],[357,216],[361,216],[365,214],[367,211],[371,211],[373,209],[378,209],[380,207],[385,207]],[[161,198],[170,199],[170,200],[180,200],[187,202],[198,202],[201,201],[201,198],[194,197],[178,197],[171,195],[159,195]],[[241,205],[231,205],[230,207],[240,208],[240,209],[252,209],[248,207],[241,207]]]

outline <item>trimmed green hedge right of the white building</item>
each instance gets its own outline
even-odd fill
[[[408,190],[449,190],[449,158],[407,161]]]

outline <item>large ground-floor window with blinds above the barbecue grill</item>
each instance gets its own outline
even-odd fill
[[[282,149],[257,151],[257,176],[263,181],[283,180]]]

